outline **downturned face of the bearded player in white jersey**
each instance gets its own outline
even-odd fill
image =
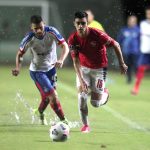
[[[39,24],[32,23],[31,29],[37,37],[44,36],[44,23],[43,22],[40,22]]]

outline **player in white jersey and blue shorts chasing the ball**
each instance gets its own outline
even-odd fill
[[[61,47],[61,54],[57,60],[56,46]],[[69,48],[65,39],[58,30],[46,26],[41,16],[31,16],[31,32],[23,38],[16,55],[16,67],[12,70],[14,76],[18,76],[21,68],[21,60],[27,50],[32,54],[30,63],[30,76],[41,94],[41,103],[38,108],[41,123],[44,124],[44,110],[50,104],[54,112],[65,121],[65,116],[58,100],[56,92],[56,68],[63,66]]]

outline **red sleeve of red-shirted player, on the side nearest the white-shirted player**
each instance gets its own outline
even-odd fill
[[[71,57],[74,58],[74,57],[78,56],[79,53],[78,53],[75,38],[73,35],[71,35],[68,38],[68,45],[69,45]]]

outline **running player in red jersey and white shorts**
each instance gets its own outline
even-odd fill
[[[88,122],[87,97],[91,90],[91,104],[100,107],[107,103],[109,93],[105,88],[107,71],[106,47],[112,46],[117,55],[121,73],[126,73],[127,66],[119,44],[106,33],[88,27],[86,12],[76,12],[74,26],[76,32],[68,39],[68,44],[77,74],[78,104],[83,127],[81,132],[90,131]]]

